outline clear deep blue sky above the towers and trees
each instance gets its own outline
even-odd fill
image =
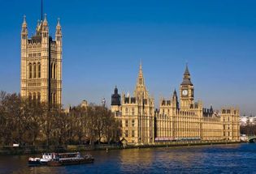
[[[45,0],[54,36],[63,27],[63,104],[110,104],[115,85],[132,93],[140,60],[158,108],[179,89],[189,63],[196,100],[256,114],[256,1]],[[0,90],[20,91],[20,30],[41,16],[40,0],[1,1]]]

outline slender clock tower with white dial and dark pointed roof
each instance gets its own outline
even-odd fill
[[[193,83],[190,80],[189,68],[186,66],[183,82],[180,84],[180,109],[188,110],[193,104]]]

